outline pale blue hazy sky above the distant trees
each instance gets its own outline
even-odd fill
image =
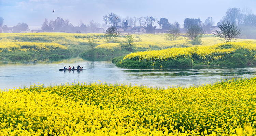
[[[204,22],[212,17],[216,25],[229,7],[248,7],[255,14],[256,0],[0,0],[0,17],[3,25],[12,27],[24,22],[30,30],[40,29],[45,18],[69,19],[75,26],[79,20],[86,25],[90,20],[102,24],[103,16],[111,12],[123,18],[163,17],[169,23],[176,20],[180,24],[185,18],[200,18]],[[157,22],[155,26],[159,27]]]

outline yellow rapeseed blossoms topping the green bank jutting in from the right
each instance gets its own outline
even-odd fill
[[[212,46],[195,46],[186,48],[168,48],[160,51],[146,51],[136,52],[128,54],[124,59],[131,59],[134,61],[145,62],[163,62],[166,60],[175,60],[181,57],[190,57],[191,55],[197,55],[200,60],[209,62],[213,60],[222,59],[224,56],[235,52],[236,50],[243,49],[247,51],[256,51],[256,42],[243,41],[243,42],[230,42],[220,43]],[[255,54],[251,54],[255,56]],[[256,56],[254,57],[256,59]],[[122,62],[120,62],[122,63]]]

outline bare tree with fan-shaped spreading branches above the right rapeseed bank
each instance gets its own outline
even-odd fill
[[[214,34],[216,37],[224,38],[226,42],[231,42],[232,39],[239,38],[241,30],[237,28],[237,25],[233,22],[223,21],[221,24],[218,24],[220,31],[216,31]]]

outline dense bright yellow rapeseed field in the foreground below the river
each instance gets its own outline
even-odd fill
[[[256,77],[197,87],[34,85],[0,94],[0,136],[256,135]]]

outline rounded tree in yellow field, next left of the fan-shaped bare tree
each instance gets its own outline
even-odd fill
[[[203,37],[204,30],[200,25],[189,25],[186,29],[186,37],[190,40],[189,42],[193,45],[202,44],[201,38]]]

